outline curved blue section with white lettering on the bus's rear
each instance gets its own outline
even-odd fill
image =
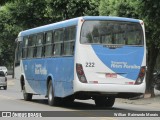
[[[128,79],[134,81],[137,79],[143,61],[144,47],[123,46],[109,49],[102,45],[92,45],[92,48],[106,67]]]

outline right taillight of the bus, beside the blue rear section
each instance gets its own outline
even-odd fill
[[[141,84],[141,83],[143,82],[145,73],[146,73],[146,67],[145,67],[145,66],[142,66],[141,69],[140,69],[138,78],[137,78],[137,80],[136,80],[136,82],[135,82],[135,85],[139,85],[139,84]]]

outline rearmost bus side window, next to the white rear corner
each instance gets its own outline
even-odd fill
[[[68,27],[65,30],[65,39],[64,39],[64,55],[73,55],[74,54],[74,44],[76,38],[76,27]]]

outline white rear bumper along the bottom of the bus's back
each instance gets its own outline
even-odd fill
[[[99,93],[104,95],[116,95],[119,93],[141,93],[145,92],[146,84],[143,82],[140,85],[121,85],[121,84],[84,84],[79,81],[75,81],[75,93],[88,92]],[[127,96],[126,96],[127,98]]]

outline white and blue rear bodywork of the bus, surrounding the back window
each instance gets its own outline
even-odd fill
[[[99,20],[90,17],[81,18],[78,24],[78,37],[85,20]],[[100,18],[100,20],[116,20],[141,23],[139,20]],[[83,21],[83,22],[82,22]],[[141,24],[140,24],[141,25]],[[141,25],[144,34],[144,25]],[[75,68],[74,92],[99,92],[104,94],[144,93],[145,77],[140,85],[135,85],[142,66],[146,66],[146,46],[121,46],[115,49],[107,45],[81,44],[76,41],[76,64],[82,64],[87,83],[79,81]],[[107,75],[110,75],[108,76]]]

